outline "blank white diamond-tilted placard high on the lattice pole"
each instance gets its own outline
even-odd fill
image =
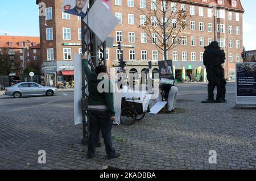
[[[89,10],[88,15],[85,16],[84,22],[104,42],[117,26],[119,20],[101,1],[96,1]]]

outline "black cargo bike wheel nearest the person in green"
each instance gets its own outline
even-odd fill
[[[123,124],[131,125],[137,119],[136,112],[131,107],[124,107],[121,110],[121,121]]]

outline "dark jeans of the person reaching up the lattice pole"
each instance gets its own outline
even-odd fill
[[[106,154],[109,158],[114,157],[115,149],[112,146],[112,125],[109,111],[89,111],[89,145],[88,155],[96,154],[96,143],[100,130],[106,147]]]

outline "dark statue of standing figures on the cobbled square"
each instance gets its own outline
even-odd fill
[[[204,65],[207,69],[208,99],[202,103],[227,103],[225,71],[222,64],[225,62],[225,52],[218,46],[217,41],[212,41],[209,46],[204,47]],[[217,87],[217,96],[214,100],[213,91]]]

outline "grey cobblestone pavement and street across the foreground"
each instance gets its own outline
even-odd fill
[[[105,148],[86,158],[82,127],[73,125],[73,92],[53,97],[0,96],[0,169],[256,169],[256,111],[236,110],[235,84],[228,104],[201,104],[207,84],[181,84],[177,108],[183,113],[151,115],[113,128],[117,159]],[[46,151],[46,164],[38,151]],[[216,150],[217,164],[209,164]]]

